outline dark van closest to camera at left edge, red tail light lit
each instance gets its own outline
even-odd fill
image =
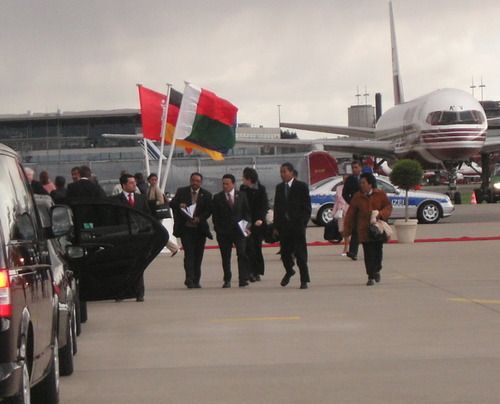
[[[59,401],[58,295],[17,154],[0,145],[0,401]]]

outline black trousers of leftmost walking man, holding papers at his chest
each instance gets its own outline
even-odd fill
[[[182,232],[181,242],[184,248],[184,271],[186,284],[198,285],[201,279],[201,262],[205,252],[207,238],[197,228],[186,227]]]

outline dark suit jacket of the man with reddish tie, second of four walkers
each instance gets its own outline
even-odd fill
[[[217,234],[234,235],[237,234],[243,238],[243,233],[239,229],[238,222],[240,220],[250,222],[250,207],[244,192],[234,190],[234,205],[229,206],[224,191],[214,195],[212,201],[212,220]]]

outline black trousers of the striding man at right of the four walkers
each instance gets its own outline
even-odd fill
[[[300,270],[300,282],[310,282],[307,266],[306,228],[280,229],[281,261],[285,271],[290,273],[294,266],[294,257]]]

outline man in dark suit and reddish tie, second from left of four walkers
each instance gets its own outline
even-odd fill
[[[246,253],[246,229],[242,229],[241,220],[250,225],[250,207],[244,192],[234,188],[236,179],[232,174],[222,177],[222,191],[215,194],[212,201],[212,219],[217,233],[224,269],[223,288],[231,287],[231,250],[236,246],[238,256],[239,286],[248,286],[249,262]],[[245,232],[245,234],[244,234]]]

